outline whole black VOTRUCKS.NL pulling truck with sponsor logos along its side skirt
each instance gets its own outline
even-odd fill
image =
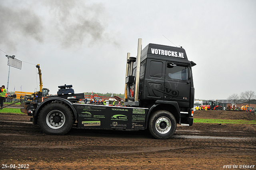
[[[59,86],[56,96],[26,102],[22,112],[33,116],[33,125],[50,135],[80,128],[149,130],[154,138],[168,139],[177,124],[192,126],[194,85],[192,66],[183,48],[148,44],[137,57],[127,53],[125,101],[122,106],[80,104],[84,94],[72,85]]]

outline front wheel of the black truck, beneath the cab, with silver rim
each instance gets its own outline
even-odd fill
[[[148,122],[149,131],[157,139],[168,139],[176,131],[175,117],[166,110],[156,111],[150,116]]]

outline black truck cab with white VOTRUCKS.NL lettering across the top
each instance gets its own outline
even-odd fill
[[[141,52],[139,102],[134,102],[132,98],[138,67],[135,61],[132,75],[126,78],[128,100],[124,104],[149,108],[148,118],[157,110],[166,110],[173,114],[178,124],[191,126],[194,107],[191,68],[194,65],[183,48],[148,44]],[[132,78],[134,81],[130,80]]]

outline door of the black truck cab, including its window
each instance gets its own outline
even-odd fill
[[[189,107],[189,72],[190,69],[188,65],[178,64],[174,62],[166,62],[166,74],[164,80],[164,100],[184,102],[183,106]]]

